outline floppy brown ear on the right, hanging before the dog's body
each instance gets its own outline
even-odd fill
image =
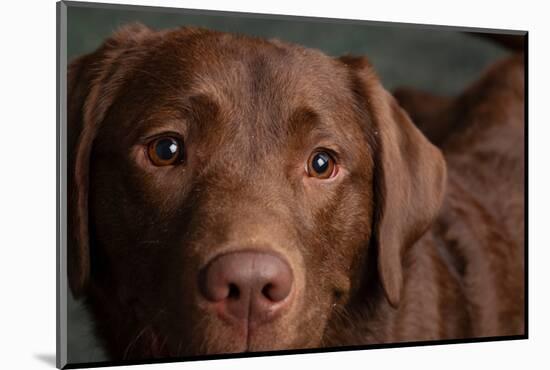
[[[407,113],[380,84],[365,58],[342,57],[368,114],[373,136],[373,239],[378,271],[390,304],[396,307],[403,287],[403,255],[437,216],[446,184],[443,155],[416,128]]]

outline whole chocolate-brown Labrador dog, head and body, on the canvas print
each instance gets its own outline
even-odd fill
[[[364,57],[130,25],[73,61],[68,278],[110,357],[524,334],[520,62],[440,149]]]

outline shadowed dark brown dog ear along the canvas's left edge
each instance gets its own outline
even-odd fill
[[[95,52],[74,60],[67,71],[68,231],[67,270],[79,297],[90,276],[88,225],[89,167],[92,146],[107,110],[124,83],[136,46],[153,32],[133,24],[116,32]]]

